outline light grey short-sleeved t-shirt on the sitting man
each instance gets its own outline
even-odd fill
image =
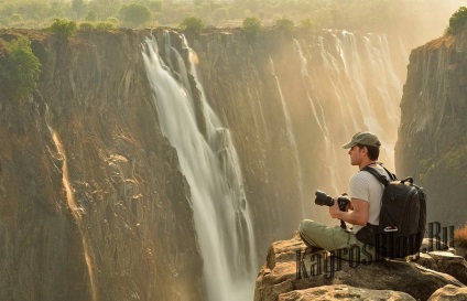
[[[384,169],[379,165],[370,165],[370,168],[377,170],[382,175],[390,179],[389,174]],[[379,215],[381,209],[381,197],[384,191],[384,185],[381,184],[378,179],[367,171],[360,171],[354,174],[349,181],[349,196],[351,198],[360,198],[370,203],[368,223],[372,225],[379,225]],[[352,233],[356,234],[363,226],[355,225]]]

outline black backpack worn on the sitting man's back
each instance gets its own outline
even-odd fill
[[[412,178],[399,181],[395,174],[388,180],[377,170],[366,166],[384,185],[379,225],[368,224],[357,233],[357,238],[374,246],[378,255],[403,258],[419,252],[426,226],[426,194],[413,184]]]

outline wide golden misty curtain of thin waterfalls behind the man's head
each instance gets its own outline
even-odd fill
[[[341,144],[370,130],[382,142],[380,160],[394,170],[402,80],[391,62],[384,35],[328,31],[312,44],[294,41],[312,116],[324,138],[327,170],[322,187],[338,194],[351,173]],[[343,168],[344,166],[344,168]]]

